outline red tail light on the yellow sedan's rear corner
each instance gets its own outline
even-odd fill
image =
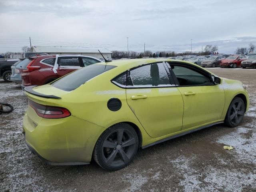
[[[42,118],[59,119],[59,118],[65,118],[71,115],[69,110],[63,107],[46,106],[46,105],[38,104],[32,100],[28,100],[28,104],[30,107],[32,107],[36,111],[36,114]]]

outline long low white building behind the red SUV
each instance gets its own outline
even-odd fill
[[[106,48],[85,48],[85,47],[47,47],[47,46],[32,46],[32,52],[43,52],[50,55],[56,54],[75,54],[75,55],[87,55],[101,59],[102,56],[106,59],[111,59],[112,52]],[[103,58],[102,58],[103,59]]]

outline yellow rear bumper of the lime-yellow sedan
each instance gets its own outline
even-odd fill
[[[28,106],[23,119],[26,144],[50,165],[88,164],[94,145],[105,128],[69,116],[44,119]]]

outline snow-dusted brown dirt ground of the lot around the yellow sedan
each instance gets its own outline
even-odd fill
[[[22,118],[27,99],[19,85],[0,80],[0,191],[256,191],[256,70],[209,69],[248,86],[250,110],[236,128],[222,124],[139,150],[130,166],[108,172],[95,162],[48,166],[27,148]],[[234,150],[224,150],[224,145]]]

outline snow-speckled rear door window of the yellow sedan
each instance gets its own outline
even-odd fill
[[[133,86],[170,86],[163,63],[145,65],[130,71]]]

